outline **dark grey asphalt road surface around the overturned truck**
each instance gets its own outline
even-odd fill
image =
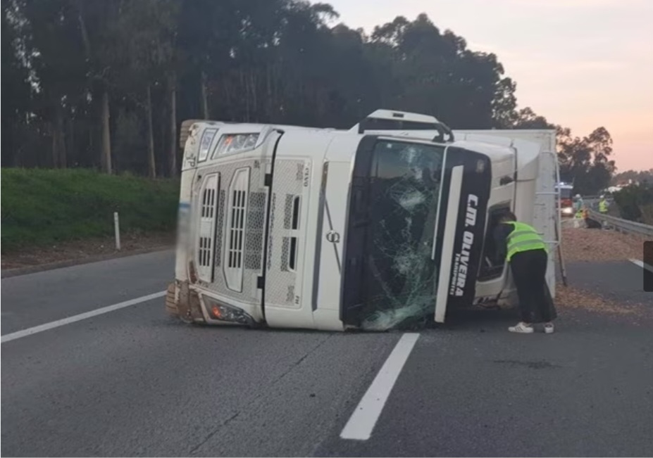
[[[163,291],[172,272],[151,253],[3,279],[2,334]],[[561,305],[556,334],[521,336],[512,312],[456,314],[421,331],[368,440],[340,433],[402,333],[187,326],[158,298],[7,341],[1,454],[653,456],[641,269],[568,273],[643,318]]]

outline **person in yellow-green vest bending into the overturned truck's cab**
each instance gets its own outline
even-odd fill
[[[505,212],[494,233],[499,255],[510,264],[519,300],[521,322],[508,330],[533,333],[533,323],[544,323],[550,334],[557,314],[546,280],[547,244],[535,228],[516,219],[514,213]]]

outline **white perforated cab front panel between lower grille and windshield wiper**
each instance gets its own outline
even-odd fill
[[[314,278],[321,165],[331,141],[321,132],[289,130],[275,142],[262,281],[271,327],[313,327],[312,290],[304,283]]]

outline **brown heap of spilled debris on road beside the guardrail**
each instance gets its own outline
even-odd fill
[[[567,262],[642,260],[644,239],[602,229],[562,229]]]

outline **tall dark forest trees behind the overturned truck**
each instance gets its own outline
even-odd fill
[[[454,129],[557,129],[581,193],[615,172],[607,129],[575,136],[518,108],[499,58],[425,14],[366,34],[297,0],[1,1],[4,167],[175,176],[185,119],[348,128],[390,108]]]

